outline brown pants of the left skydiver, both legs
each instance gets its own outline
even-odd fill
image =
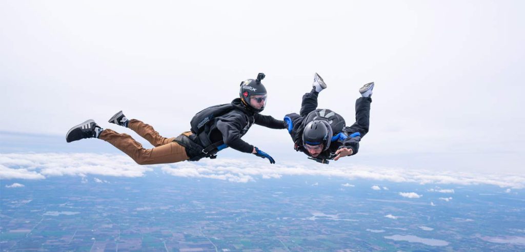
[[[110,129],[102,131],[99,138],[111,143],[138,164],[166,164],[189,159],[184,146],[173,142],[175,138],[162,137],[151,125],[131,119],[128,128],[148,140],[155,148],[144,149],[142,144],[131,138],[131,135],[120,134]],[[192,132],[188,131],[183,134],[191,135]]]

